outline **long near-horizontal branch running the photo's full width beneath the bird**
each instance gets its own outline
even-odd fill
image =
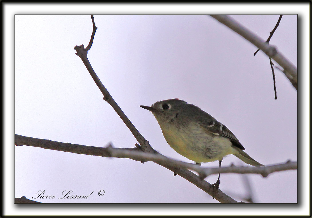
[[[201,167],[197,164],[186,163],[183,161],[173,160],[160,153],[143,152],[140,148],[113,148],[109,145],[106,148],[84,146],[71,143],[63,143],[58,141],[50,141],[45,139],[37,139],[27,136],[20,136],[15,134],[15,145],[22,146],[34,146],[45,149],[51,149],[56,151],[66,151],[76,154],[87,154],[102,157],[117,157],[117,158],[129,158],[135,161],[153,161],[161,166],[172,167],[175,169],[184,168],[196,171],[201,179],[206,178],[212,174],[219,173],[241,173],[241,174],[261,174],[263,177],[267,177],[269,174],[278,171],[296,170],[297,162],[287,161],[283,164],[275,164],[264,167],[250,167],[250,166],[234,166],[233,164],[228,167]],[[176,170],[174,171],[176,173]]]

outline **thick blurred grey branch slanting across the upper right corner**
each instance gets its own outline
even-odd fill
[[[275,60],[281,67],[283,67],[283,72],[293,87],[298,90],[297,67],[295,67],[281,52],[279,52],[275,46],[269,45],[263,39],[227,15],[210,16],[240,34],[256,47],[260,48],[264,53],[266,53],[267,56]]]

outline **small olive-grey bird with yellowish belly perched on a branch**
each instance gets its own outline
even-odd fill
[[[219,161],[221,167],[223,157],[233,154],[252,166],[264,166],[243,151],[245,148],[226,126],[193,104],[168,99],[140,107],[155,116],[169,146],[196,164]],[[214,190],[219,185],[220,173]]]

